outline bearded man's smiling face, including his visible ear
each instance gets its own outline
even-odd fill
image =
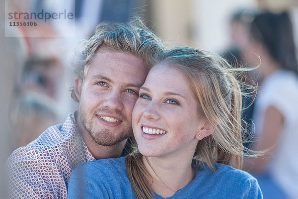
[[[112,146],[132,135],[132,111],[147,73],[140,58],[102,49],[83,82],[76,79],[80,122],[97,144]]]

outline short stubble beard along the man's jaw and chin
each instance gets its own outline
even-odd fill
[[[83,124],[86,131],[89,133],[92,140],[94,140],[94,142],[96,142],[97,144],[102,146],[113,146],[122,142],[123,140],[126,140],[127,138],[133,135],[132,126],[123,129],[116,136],[112,136],[114,135],[114,133],[111,133],[108,128],[101,129],[100,131],[96,131],[92,127],[92,116],[94,115],[95,117],[95,112],[92,111],[90,113],[90,118],[88,118],[87,113],[83,110],[84,108],[80,104],[79,111],[78,111],[80,121]]]

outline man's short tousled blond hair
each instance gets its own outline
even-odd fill
[[[132,17],[129,23],[102,22],[96,26],[93,36],[78,43],[72,56],[71,65],[80,80],[84,80],[90,62],[101,48],[135,55],[141,58],[149,69],[165,50],[162,40],[152,33],[137,15]],[[69,90],[72,98],[78,102],[74,87]]]

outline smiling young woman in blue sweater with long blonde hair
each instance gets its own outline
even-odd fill
[[[133,110],[138,148],[77,168],[69,199],[262,199],[256,179],[238,170],[240,110],[239,85],[222,58],[169,50]]]

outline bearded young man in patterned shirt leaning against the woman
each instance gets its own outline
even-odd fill
[[[79,108],[11,154],[9,198],[67,199],[68,180],[79,164],[123,155],[139,87],[163,45],[137,20],[101,23],[80,47],[72,90]]]

